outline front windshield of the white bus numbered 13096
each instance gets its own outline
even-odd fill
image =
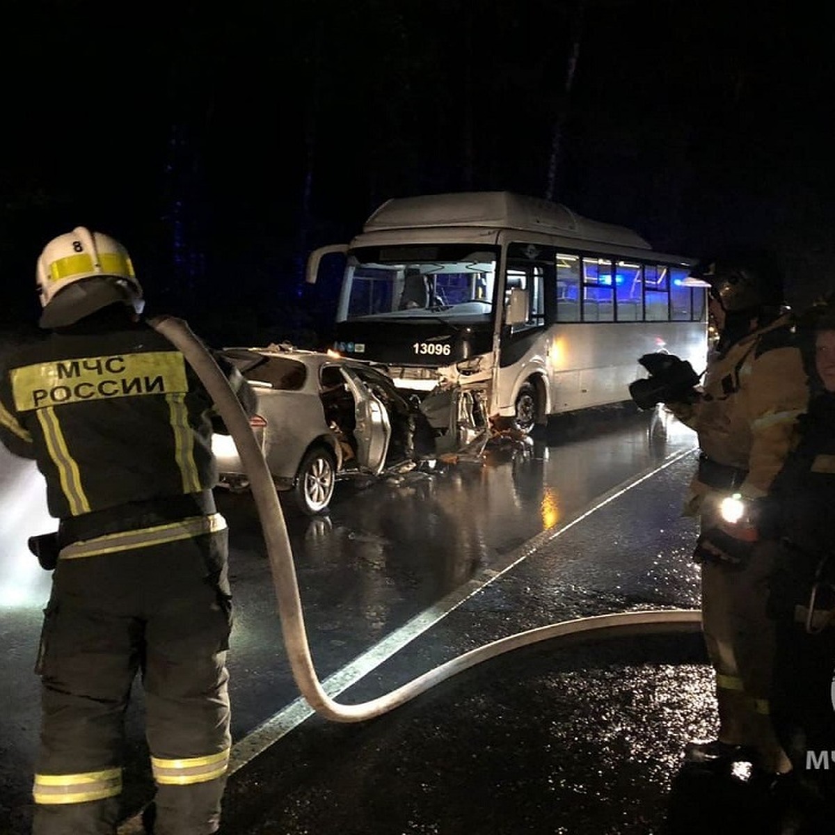
[[[337,321],[490,321],[497,254],[473,245],[368,247],[348,258]]]

